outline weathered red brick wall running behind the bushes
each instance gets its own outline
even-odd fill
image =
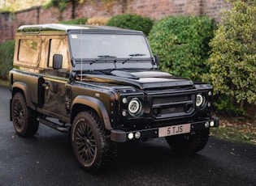
[[[219,10],[230,8],[224,0],[114,0],[109,4],[102,0],[85,1],[76,5],[76,18],[111,17],[123,13],[135,13],[161,19],[167,15],[207,15],[219,21]],[[72,4],[63,12],[57,8],[43,9],[41,6],[28,10],[0,14],[0,44],[12,40],[17,27],[23,24],[59,23],[72,19]]]

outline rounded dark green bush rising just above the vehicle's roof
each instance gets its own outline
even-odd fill
[[[115,15],[106,23],[106,25],[142,31],[148,35],[153,26],[153,21],[149,18],[143,18],[141,15],[124,14]]]

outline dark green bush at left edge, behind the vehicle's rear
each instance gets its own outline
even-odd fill
[[[0,46],[0,78],[7,79],[8,72],[13,68],[15,40],[8,40]]]

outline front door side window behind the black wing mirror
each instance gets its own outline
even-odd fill
[[[49,58],[48,58],[48,67],[53,67],[53,58],[54,54],[63,55],[63,69],[68,69],[68,50],[67,50],[67,42],[61,38],[50,39],[49,44]]]

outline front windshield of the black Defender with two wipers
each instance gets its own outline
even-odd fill
[[[142,35],[80,34],[70,35],[72,57],[148,58],[150,49]]]

